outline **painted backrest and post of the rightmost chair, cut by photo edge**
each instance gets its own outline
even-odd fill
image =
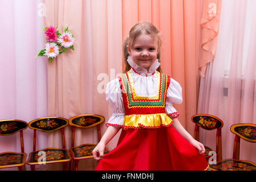
[[[247,142],[256,142],[256,125],[248,123],[234,124],[230,127],[230,131],[236,134],[234,139],[233,159],[240,158],[240,142],[241,138]]]

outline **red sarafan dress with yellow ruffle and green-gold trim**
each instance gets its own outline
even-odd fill
[[[119,77],[125,117],[117,147],[104,156],[96,170],[207,170],[204,155],[172,127],[165,113],[170,76],[156,72],[158,94],[137,96],[130,71]]]

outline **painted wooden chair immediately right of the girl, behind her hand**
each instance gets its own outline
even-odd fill
[[[192,122],[196,123],[194,138],[199,141],[199,127],[205,130],[217,130],[216,132],[216,150],[208,146],[205,147],[205,159],[207,161],[213,155],[209,155],[210,151],[215,151],[217,155],[217,161],[222,160],[222,144],[221,144],[221,128],[223,127],[223,122],[220,118],[209,114],[196,114],[191,117]]]

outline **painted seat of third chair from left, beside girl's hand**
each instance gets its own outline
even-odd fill
[[[72,147],[70,149],[73,159],[85,159],[85,158],[93,158],[92,151],[96,147],[96,144],[81,144],[77,147]],[[108,154],[108,148],[105,148],[104,155]]]

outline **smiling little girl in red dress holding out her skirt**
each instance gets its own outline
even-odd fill
[[[123,44],[125,73],[106,86],[113,115],[93,150],[96,170],[208,170],[205,148],[183,128],[173,103],[181,104],[180,84],[162,73],[161,40],[148,22],[131,28]],[[117,147],[106,144],[122,129]]]

